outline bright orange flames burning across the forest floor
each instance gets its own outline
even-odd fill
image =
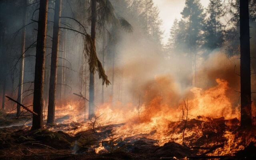
[[[155,86],[152,86],[152,83]],[[176,142],[181,145],[185,143],[190,147],[195,146],[200,138],[206,136],[205,132],[212,132],[216,134],[214,139],[201,146],[211,147],[222,144],[208,154],[212,156],[232,156],[239,150],[244,150],[244,143],[249,145],[250,142],[256,142],[255,132],[248,133],[246,142],[243,140],[244,137],[236,132],[240,123],[239,110],[238,106],[232,107],[232,102],[226,95],[229,88],[226,80],[216,79],[216,86],[207,90],[192,88],[189,91],[193,94],[190,99],[181,100],[180,103],[172,102],[180,98],[177,98],[178,95],[170,88],[173,86],[171,83],[166,76],[155,78],[154,82],[150,82],[150,88],[143,87],[145,90],[141,93],[143,96],[141,96],[140,106],[132,106],[132,104],[112,106],[110,102],[102,104],[95,113],[95,116],[101,115],[97,119],[96,132],[104,132],[101,126],[120,124],[112,128],[111,134],[114,140],[132,142],[146,138],[155,140],[156,146]],[[74,114],[79,113],[76,110],[81,110],[79,105],[73,103],[62,107],[62,110],[57,109],[60,114],[57,112],[56,116],[63,117],[62,113],[65,110],[69,118],[63,123],[81,122],[84,120],[84,115]],[[184,112],[185,105],[188,105],[188,113]],[[186,114],[188,114],[187,119]],[[188,121],[187,126],[184,126],[185,121]],[[90,121],[82,122],[79,128],[70,130],[68,133],[77,134],[90,128],[92,128]],[[216,136],[219,142],[216,141]],[[208,139],[207,136],[205,138]],[[110,140],[111,138],[107,137],[102,142]],[[102,142],[99,143],[98,148],[95,148],[96,153],[108,152]]]

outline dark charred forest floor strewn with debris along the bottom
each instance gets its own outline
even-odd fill
[[[20,118],[19,121],[24,120]],[[163,146],[157,146],[157,140],[147,138],[147,135],[113,138],[113,128],[124,124],[101,126],[97,132],[92,129],[74,132],[82,125],[78,122],[46,126],[46,129],[34,131],[30,131],[30,126],[12,124],[10,118],[7,120],[0,116],[1,160],[256,159],[256,146],[252,142],[256,139],[256,128],[240,130],[237,119],[188,120],[186,130],[192,132],[202,126],[200,136],[193,133],[184,138],[183,145],[174,139]],[[170,134],[180,133],[184,128],[184,122],[170,122],[170,125],[173,126]],[[70,134],[72,132],[75,134]],[[228,137],[227,133],[236,134]]]

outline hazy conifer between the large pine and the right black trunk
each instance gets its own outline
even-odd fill
[[[209,17],[204,28],[204,47],[208,49],[219,48],[223,43],[223,25],[220,22],[223,15],[221,0],[210,0],[207,13]]]

